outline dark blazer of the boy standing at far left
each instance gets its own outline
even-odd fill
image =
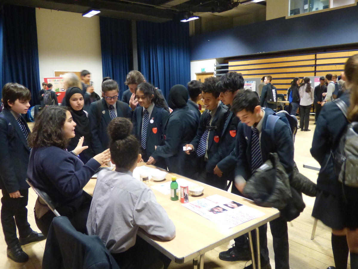
[[[13,131],[8,137],[8,124],[5,119],[0,118],[0,189],[12,193],[29,188],[25,180],[30,148],[10,110],[4,108],[1,114],[9,119]],[[20,118],[30,134],[30,129],[21,114]]]

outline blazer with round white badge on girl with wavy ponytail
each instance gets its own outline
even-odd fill
[[[161,111],[160,111],[161,110]],[[163,131],[166,121],[169,118],[169,112],[154,105],[149,120],[153,119],[153,123],[148,123],[146,137],[146,153],[150,157],[155,151],[155,146],[163,145]],[[137,137],[139,143],[142,139],[142,120],[143,108],[136,107],[132,117],[133,134]],[[157,160],[158,161],[158,160]]]

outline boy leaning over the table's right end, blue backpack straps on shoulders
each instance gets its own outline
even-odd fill
[[[266,128],[267,117],[274,114],[270,108],[261,108],[257,95],[250,90],[243,90],[236,94],[232,111],[241,122],[238,124],[236,135],[237,166],[235,169],[235,187],[233,193],[241,195],[246,181],[249,180],[258,167],[267,161],[270,152],[279,155],[281,164],[284,166],[289,177],[292,176],[294,166],[294,146],[291,129],[283,121],[277,121],[272,130]],[[274,137],[274,140],[273,140]],[[275,252],[275,268],[289,269],[289,242],[287,222],[282,218],[270,221],[272,240]],[[267,224],[259,229],[261,268],[271,269],[269,250],[267,249]],[[253,237],[255,233],[252,233]],[[256,239],[254,240],[256,242]],[[254,247],[255,248],[255,247]],[[247,252],[247,237],[245,235],[235,239],[235,246],[228,251],[233,258],[238,260],[241,252]],[[225,253],[220,253],[223,256]],[[226,255],[227,257],[229,255]],[[246,268],[252,268],[251,265]]]

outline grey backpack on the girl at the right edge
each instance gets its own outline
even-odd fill
[[[347,118],[347,104],[339,98],[333,102]],[[349,187],[358,188],[358,122],[351,122],[347,125],[338,147],[332,154],[338,181]]]

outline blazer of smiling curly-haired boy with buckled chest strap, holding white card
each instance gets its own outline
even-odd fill
[[[209,110],[205,110],[203,112],[202,117],[200,118],[197,135],[194,137],[192,142],[189,143],[194,146],[195,154],[196,154],[199,142],[200,142],[200,138],[205,131],[205,126],[206,126],[205,122],[207,121],[208,113],[209,113]],[[215,160],[213,160],[213,156],[215,155],[215,153],[218,151],[218,148],[219,148],[219,142],[222,137],[222,131],[224,128],[227,113],[228,113],[227,109],[223,106],[222,103],[220,103],[218,109],[216,110],[216,113],[213,116],[213,120],[211,123],[211,126],[216,126],[217,129],[209,132],[209,140],[208,140],[208,148],[207,148],[208,163],[206,166],[207,169],[209,169],[209,167],[212,167],[214,165],[213,162],[215,162]],[[215,167],[215,165],[214,165],[214,167]],[[213,172],[212,170],[207,170],[207,171],[209,171],[211,173]]]

